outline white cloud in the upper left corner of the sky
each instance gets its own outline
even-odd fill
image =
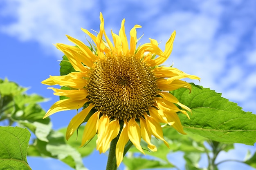
[[[8,0],[6,3],[7,10],[1,15],[9,15],[17,21],[2,25],[1,31],[22,41],[37,41],[46,49],[54,48],[54,51],[56,50],[52,43],[71,44],[65,34],[84,36],[80,28],[90,27],[88,18],[94,19],[93,16],[97,16],[99,20],[99,13],[93,15],[97,1]]]

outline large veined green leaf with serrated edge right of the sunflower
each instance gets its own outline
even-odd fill
[[[244,112],[236,103],[209,88],[191,85],[191,94],[184,88],[172,92],[193,112],[191,119],[179,114],[185,132],[224,143],[253,145],[256,142],[255,114]]]

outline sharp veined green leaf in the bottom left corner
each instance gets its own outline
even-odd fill
[[[31,170],[27,163],[30,133],[18,127],[0,127],[0,169]]]

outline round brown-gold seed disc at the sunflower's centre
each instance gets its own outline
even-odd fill
[[[94,63],[85,88],[101,113],[119,120],[138,119],[155,102],[156,79],[143,60],[110,56]]]

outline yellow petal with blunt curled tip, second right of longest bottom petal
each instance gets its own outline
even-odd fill
[[[139,122],[140,122],[140,130],[141,130],[141,137],[144,141],[146,141],[146,143],[148,143],[148,148],[155,152],[157,151],[157,147],[155,145],[153,145],[150,140],[151,140],[151,134],[148,131],[147,125],[146,125],[146,121],[142,118],[139,117]]]

